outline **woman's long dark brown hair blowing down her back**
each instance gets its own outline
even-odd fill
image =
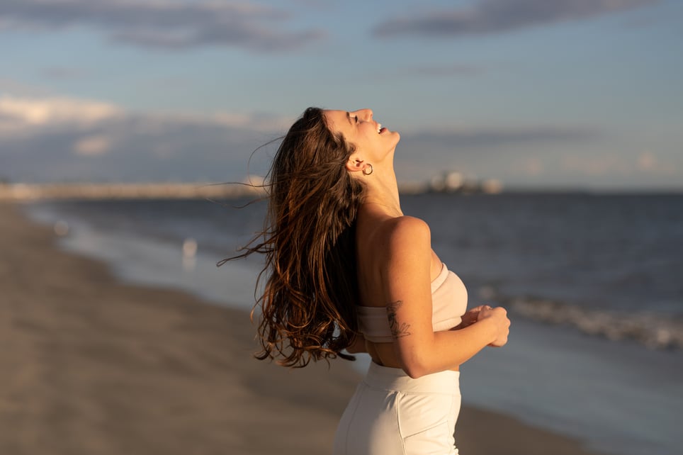
[[[353,145],[307,108],[278,148],[266,178],[263,232],[237,257],[265,254],[258,359],[302,367],[310,360],[354,359],[342,353],[358,330],[356,213],[363,186],[345,164]],[[258,285],[257,285],[258,286]]]

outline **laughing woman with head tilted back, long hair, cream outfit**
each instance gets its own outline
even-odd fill
[[[457,454],[458,368],[507,342],[505,310],[465,311],[429,226],[403,215],[399,140],[369,109],[308,108],[273,159],[266,229],[241,255],[266,254],[259,359],[372,358],[334,455]]]

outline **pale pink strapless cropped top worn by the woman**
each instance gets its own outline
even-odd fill
[[[359,332],[371,342],[393,342],[386,307],[356,305]],[[458,275],[441,264],[439,276],[431,282],[431,326],[434,332],[460,324],[467,310],[467,289]]]

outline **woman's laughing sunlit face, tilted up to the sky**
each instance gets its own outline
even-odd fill
[[[342,133],[344,140],[356,146],[356,152],[368,162],[379,162],[396,148],[401,136],[373,120],[373,111],[324,111],[332,133]]]

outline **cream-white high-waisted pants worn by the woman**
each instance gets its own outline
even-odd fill
[[[413,379],[371,362],[346,406],[333,455],[457,455],[460,372]]]

